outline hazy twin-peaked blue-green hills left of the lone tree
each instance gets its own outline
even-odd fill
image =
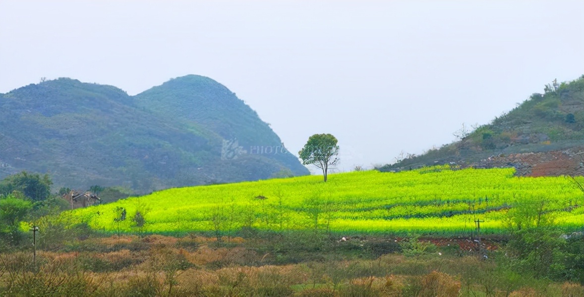
[[[60,78],[0,94],[0,179],[50,173],[55,188],[169,187],[304,175],[249,106],[188,75],[137,96]]]

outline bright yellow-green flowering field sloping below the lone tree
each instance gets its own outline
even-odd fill
[[[462,235],[508,228],[584,226],[584,193],[569,177],[515,177],[514,169],[428,167],[172,188],[61,214],[119,233],[327,230]],[[577,177],[582,183],[582,177]],[[140,212],[144,225],[137,224]],[[122,214],[123,213],[123,214]]]

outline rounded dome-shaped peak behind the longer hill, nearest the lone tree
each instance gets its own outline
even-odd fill
[[[295,156],[285,152],[280,138],[269,124],[258,121],[254,110],[235,93],[210,78],[183,76],[135,98],[138,106],[152,110],[160,117],[175,118],[194,130],[200,126],[207,128],[218,135],[225,146],[239,149],[239,155],[271,155],[270,158],[294,172],[307,173]]]

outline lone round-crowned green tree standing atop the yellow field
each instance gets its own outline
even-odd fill
[[[339,162],[338,154],[337,140],[331,134],[312,135],[304,148],[298,152],[304,165],[313,164],[322,170],[324,181],[326,181],[329,166],[335,166]]]

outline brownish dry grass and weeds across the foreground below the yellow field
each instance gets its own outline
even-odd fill
[[[12,251],[0,254],[0,296],[584,297],[582,285],[517,274],[504,258],[492,260],[502,257],[495,252],[486,260],[450,247],[404,255],[394,240],[325,242],[320,250],[269,239],[227,242],[89,238],[39,250],[36,265],[29,251]]]

